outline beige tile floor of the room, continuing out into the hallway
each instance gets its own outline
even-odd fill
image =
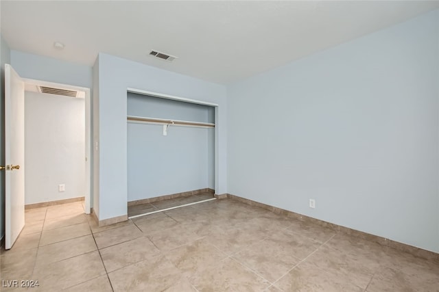
[[[23,233],[1,252],[0,290],[439,291],[438,261],[235,200],[100,228],[82,210],[26,211]],[[4,287],[11,280],[39,287]]]

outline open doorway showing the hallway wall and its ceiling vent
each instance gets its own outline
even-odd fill
[[[91,92],[25,82],[25,207],[84,200],[91,212]],[[29,175],[30,174],[30,175]]]

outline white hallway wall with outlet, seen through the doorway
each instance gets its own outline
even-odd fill
[[[83,197],[85,156],[85,98],[26,91],[25,204]]]

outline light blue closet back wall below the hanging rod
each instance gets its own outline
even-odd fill
[[[209,187],[207,131],[128,123],[128,202]]]

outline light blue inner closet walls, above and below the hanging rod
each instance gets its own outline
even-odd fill
[[[214,122],[213,107],[128,93],[128,115]],[[211,120],[209,120],[211,118]],[[204,189],[214,171],[209,129],[128,123],[128,202]],[[209,141],[208,139],[212,139]],[[209,149],[211,147],[211,149]]]

